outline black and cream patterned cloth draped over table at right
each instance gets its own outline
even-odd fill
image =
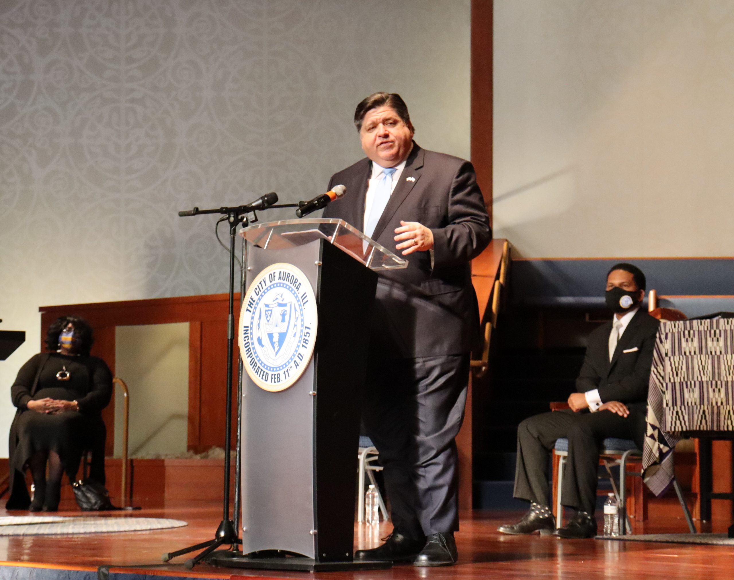
[[[734,431],[734,318],[660,326],[642,455],[644,482],[655,495],[672,483],[682,431]]]

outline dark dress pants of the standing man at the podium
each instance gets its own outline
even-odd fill
[[[469,355],[372,359],[363,406],[379,451],[395,529],[410,537],[459,529],[458,455]]]

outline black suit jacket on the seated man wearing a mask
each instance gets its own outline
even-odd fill
[[[598,389],[603,403],[619,401],[627,404],[647,404],[647,385],[653,365],[655,337],[660,321],[642,307],[633,316],[609,360],[611,321],[589,334],[584,365],[581,367],[576,390],[579,393]],[[627,352],[625,352],[627,351]]]

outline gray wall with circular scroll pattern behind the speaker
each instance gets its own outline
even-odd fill
[[[224,292],[214,218],[177,210],[322,193],[361,157],[350,118],[374,90],[404,96],[418,143],[468,157],[469,8],[0,2],[0,328],[29,332],[0,384],[37,351],[41,305]],[[12,411],[0,398],[0,437]]]

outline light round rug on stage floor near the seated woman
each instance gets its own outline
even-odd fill
[[[188,523],[164,518],[63,518],[61,516],[8,516],[0,518],[0,536],[48,534],[103,534],[181,528]]]

